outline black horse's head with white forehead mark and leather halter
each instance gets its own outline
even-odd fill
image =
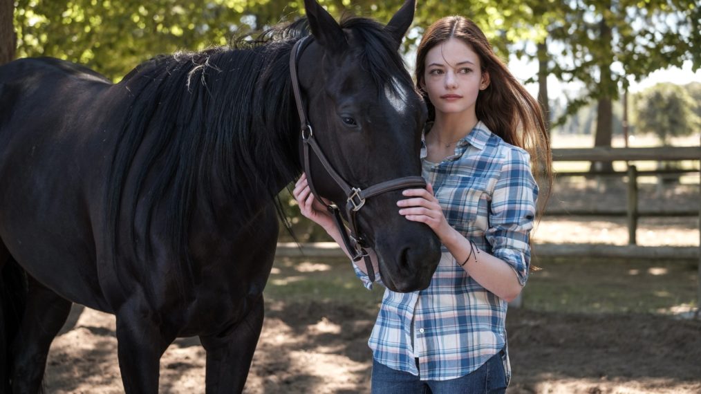
[[[397,53],[414,18],[414,1],[407,1],[386,26],[365,18],[339,24],[314,0],[306,0],[305,7],[313,39],[299,55],[297,76],[306,121],[313,126],[303,130],[300,144],[313,133],[328,162],[309,155],[307,177],[315,191],[346,207],[353,201],[339,177],[358,190],[421,177],[426,106]],[[329,174],[329,166],[337,177]],[[440,243],[428,226],[399,214],[401,198],[402,188],[395,188],[362,201],[362,209],[341,212],[376,252],[386,287],[409,292],[430,284]]]

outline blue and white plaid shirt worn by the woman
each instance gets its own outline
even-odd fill
[[[538,196],[529,154],[479,122],[458,142],[454,156],[430,163],[424,143],[421,159],[423,177],[433,184],[449,224],[512,266],[524,285]],[[367,275],[354,268],[365,287],[372,288]],[[503,349],[510,379],[506,309],[507,302],[475,282],[443,246],[426,290],[385,290],[368,344],[377,361],[422,380],[464,376]]]

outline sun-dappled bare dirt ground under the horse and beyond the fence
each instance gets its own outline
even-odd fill
[[[646,208],[698,208],[698,186],[646,197]],[[559,190],[554,203],[581,198]],[[613,203],[612,203],[613,204]],[[698,245],[697,219],[641,221],[642,245]],[[544,219],[537,242],[624,244],[624,222]],[[367,393],[374,311],[348,303],[273,300],[266,305],[245,393]],[[701,321],[669,315],[511,309],[508,393],[701,393]],[[204,393],[205,353],[179,339],[161,359],[162,393]],[[51,347],[48,393],[122,393],[114,318],[74,306]]]

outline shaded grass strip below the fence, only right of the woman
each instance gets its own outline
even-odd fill
[[[674,313],[696,304],[695,261],[538,259],[524,307],[582,313]]]

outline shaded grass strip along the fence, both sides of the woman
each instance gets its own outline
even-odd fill
[[[576,313],[674,313],[696,305],[696,261],[538,259],[524,308]],[[376,310],[384,287],[365,290],[348,259],[275,261],[268,301],[334,301]]]

